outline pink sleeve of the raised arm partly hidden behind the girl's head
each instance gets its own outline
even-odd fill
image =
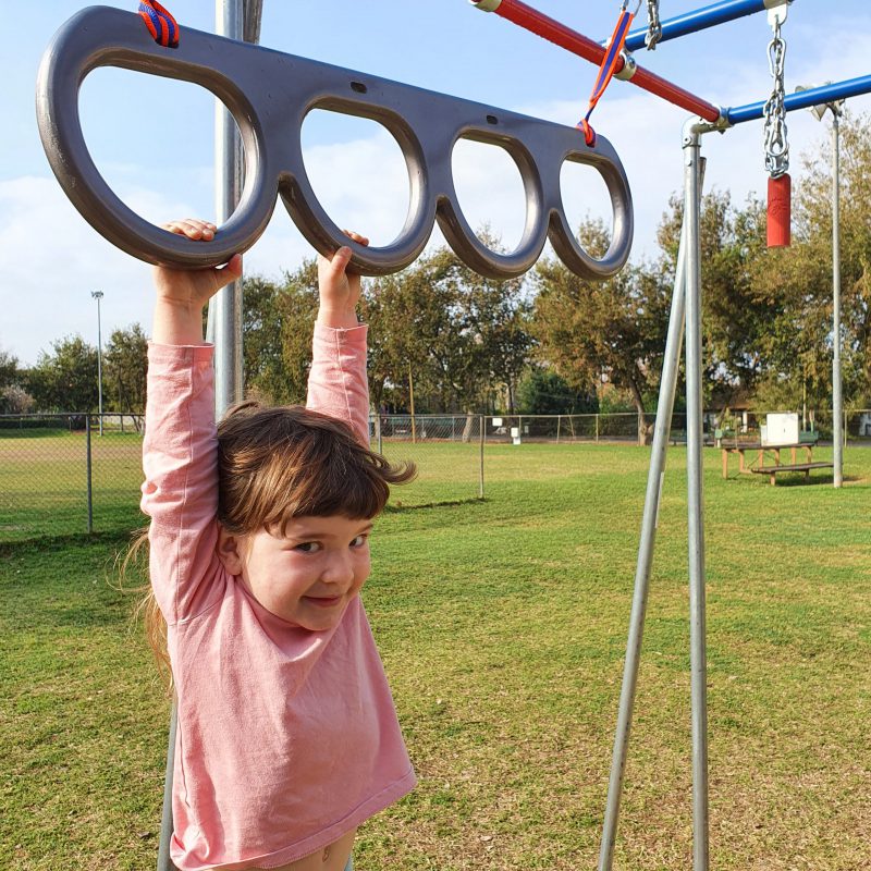
[[[338,329],[315,324],[306,407],[349,424],[369,444],[369,382],[365,324]]]

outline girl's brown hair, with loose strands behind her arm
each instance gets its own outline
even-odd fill
[[[342,420],[302,406],[244,402],[218,424],[218,520],[234,535],[284,535],[295,517],[370,519],[390,486],[410,481],[410,463],[392,465]],[[147,541],[134,542],[126,566]],[[169,675],[167,624],[148,589],[139,605],[160,670]]]

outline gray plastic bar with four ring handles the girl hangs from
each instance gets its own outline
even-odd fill
[[[78,114],[82,82],[98,66],[201,85],[235,118],[245,150],[245,185],[238,207],[212,242],[193,242],[143,220],[103,181],[85,145]],[[398,143],[408,169],[410,204],[405,225],[391,244],[365,247],[349,242],[318,203],[300,143],[303,121],[312,109],[379,122]],[[214,266],[247,250],[269,223],[277,189],[312,247],[329,254],[349,245],[352,268],[368,275],[395,272],[413,262],[436,219],[463,261],[492,279],[527,271],[548,237],[566,267],[587,279],[615,274],[631,245],[629,185],[603,136],[589,148],[574,127],[200,30],[185,28],[177,49],[162,48],[138,15],[108,7],[83,10],[56,34],[39,69],[37,119],[51,168],[85,220],[119,248],[151,263]],[[526,224],[510,254],[482,245],[463,216],[451,170],[452,149],[459,138],[501,146],[517,164],[526,194]],[[578,245],[566,218],[560,187],[565,161],[593,167],[608,186],[613,237],[601,259]]]

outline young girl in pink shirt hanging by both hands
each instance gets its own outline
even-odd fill
[[[366,446],[349,257],[319,261],[307,407],[243,404],[217,430],[203,307],[242,260],[155,270],[142,506],[177,697],[180,871],[342,871],[356,827],[415,784],[358,594],[372,518],[413,469]]]

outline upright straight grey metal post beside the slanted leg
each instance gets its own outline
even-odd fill
[[[700,134],[684,136],[686,222],[687,504],[689,532],[690,695],[692,703],[692,868],[708,871],[708,664],[704,602],[704,501],[702,494]]]

